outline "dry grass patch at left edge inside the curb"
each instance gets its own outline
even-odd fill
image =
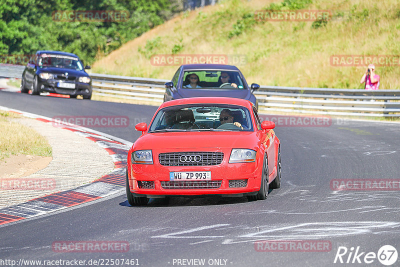
[[[51,156],[51,146],[35,130],[12,121],[13,112],[0,111],[0,160],[10,155]]]

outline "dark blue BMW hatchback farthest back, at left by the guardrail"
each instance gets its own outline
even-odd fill
[[[82,61],[73,53],[37,51],[29,59],[22,73],[21,92],[39,94],[51,92],[68,94],[75,98],[91,98],[91,78]]]

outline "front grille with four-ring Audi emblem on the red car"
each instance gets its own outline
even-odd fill
[[[158,161],[164,166],[209,166],[222,162],[222,152],[171,152],[158,154]]]

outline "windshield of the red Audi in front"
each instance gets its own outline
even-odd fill
[[[252,131],[247,108],[228,104],[177,105],[160,109],[148,132]]]

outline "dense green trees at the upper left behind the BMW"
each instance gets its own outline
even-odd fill
[[[183,10],[184,0],[4,0],[0,63],[36,50],[77,54],[91,64]],[[5,61],[5,62],[4,62]]]

